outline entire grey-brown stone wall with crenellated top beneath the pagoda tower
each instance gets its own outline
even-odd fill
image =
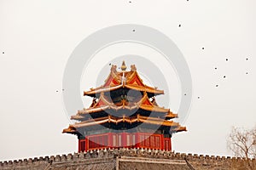
[[[0,161],[0,169],[253,169],[256,161],[163,150],[94,150],[62,156]]]

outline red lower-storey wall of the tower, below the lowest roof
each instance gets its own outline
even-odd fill
[[[104,148],[172,150],[170,138],[152,133],[102,133],[79,139],[79,152]]]

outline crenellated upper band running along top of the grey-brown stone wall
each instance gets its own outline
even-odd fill
[[[19,167],[20,169],[26,169],[30,167],[31,169],[45,169],[45,167],[58,167],[61,165],[71,165],[75,166],[77,163],[79,166],[84,163],[86,165],[98,163],[113,163],[116,166],[116,160],[122,160],[124,157],[129,157],[130,160],[133,158],[150,158],[151,160],[177,160],[190,163],[192,167],[225,167],[231,168],[232,166],[246,166],[249,162],[252,165],[256,164],[255,159],[246,160],[245,158],[230,157],[230,156],[203,156],[197,154],[184,154],[184,153],[174,153],[172,151],[165,150],[143,150],[143,149],[119,149],[119,150],[93,150],[88,152],[80,152],[67,155],[56,155],[56,156],[40,156],[34,158],[28,158],[24,160],[14,160],[14,161],[0,161],[0,169],[13,169],[14,167]],[[185,161],[184,161],[185,160]],[[81,164],[82,163],[82,164]]]

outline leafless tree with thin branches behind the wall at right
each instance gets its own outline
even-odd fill
[[[250,159],[256,158],[256,127],[249,130],[232,127],[227,144],[228,149],[231,150],[236,157],[245,158],[247,166],[250,169],[254,168]]]

